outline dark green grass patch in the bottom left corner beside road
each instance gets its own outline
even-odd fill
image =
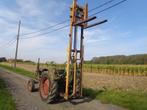
[[[0,79],[0,110],[16,110],[12,95],[2,79]]]

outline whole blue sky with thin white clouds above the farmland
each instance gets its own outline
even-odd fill
[[[88,3],[89,10],[109,0],[78,0],[80,5]],[[121,0],[101,7],[101,11]],[[69,19],[72,0],[0,0],[0,57],[14,58],[18,21],[21,20],[18,58],[42,62],[67,60],[69,28],[49,34],[38,34],[53,31],[69,24],[41,31],[40,29],[55,25]],[[97,14],[97,20],[108,22],[84,32],[84,58],[110,55],[132,55],[147,53],[147,0],[127,0],[126,2]],[[95,22],[96,22],[95,21]],[[24,36],[23,36],[24,35]],[[37,36],[30,39],[25,37]],[[11,42],[12,41],[12,42]]]

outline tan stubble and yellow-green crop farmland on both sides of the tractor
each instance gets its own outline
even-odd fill
[[[9,63],[3,63],[3,64],[12,66]],[[17,66],[21,69],[30,71],[31,73],[34,73],[36,70],[35,64],[18,63]],[[115,70],[117,69],[117,66],[120,67],[120,69],[124,73],[121,72],[119,69],[118,70],[120,71],[120,73],[118,73],[118,71]],[[47,66],[41,65],[41,67],[44,68]],[[51,68],[51,67],[52,67],[51,65],[48,65],[47,68]],[[97,69],[95,70],[92,69],[92,72],[90,72],[91,71],[90,65],[84,65],[84,74],[83,74],[84,87],[95,89],[95,90],[119,88],[123,90],[141,90],[141,91],[147,92],[147,77],[145,75],[147,67],[144,65],[114,65],[113,67],[112,65],[108,65],[108,66],[107,65],[95,65],[95,68],[96,67],[99,67],[98,70],[100,72],[98,72]],[[64,68],[64,65],[57,65],[56,68]],[[136,73],[130,72],[130,69],[132,68],[134,69],[133,71],[135,71]],[[139,71],[142,71],[142,69],[144,69],[143,72],[139,73]]]

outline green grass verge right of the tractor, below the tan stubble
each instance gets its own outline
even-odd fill
[[[147,94],[141,91],[84,89],[84,95],[96,98],[102,103],[111,103],[130,110],[147,110]]]

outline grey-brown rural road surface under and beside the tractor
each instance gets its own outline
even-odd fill
[[[30,93],[27,91],[28,77],[10,73],[0,68],[0,78],[6,81],[17,110],[126,110],[112,104],[102,104],[100,101],[89,98],[46,104],[42,102],[38,92]]]

